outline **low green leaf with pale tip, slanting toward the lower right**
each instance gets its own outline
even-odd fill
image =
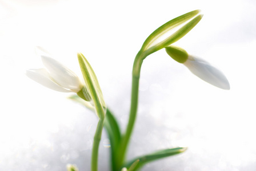
[[[187,148],[179,147],[179,148],[159,150],[159,151],[157,151],[155,153],[152,153],[152,154],[147,154],[145,156],[137,157],[134,160],[131,160],[130,162],[127,162],[127,164],[124,167],[130,168],[134,164],[134,162],[139,160],[138,164],[133,169],[135,171],[138,168],[141,168],[147,162],[155,161],[155,160],[158,160],[158,159],[164,158],[164,157],[173,156],[175,154],[185,152],[186,149]]]

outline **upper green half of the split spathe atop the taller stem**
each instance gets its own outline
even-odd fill
[[[157,39],[165,34],[167,31],[170,31],[174,27],[177,27],[181,25],[182,23],[189,21],[189,19],[195,17],[200,12],[200,10],[194,10],[190,11],[189,13],[183,14],[177,18],[172,19],[171,21],[165,23],[161,27],[157,28],[154,32],[152,32],[149,37],[145,40],[145,42],[142,45],[141,50],[146,51],[150,47],[152,47],[152,44],[157,41]],[[169,44],[168,44],[169,45]]]

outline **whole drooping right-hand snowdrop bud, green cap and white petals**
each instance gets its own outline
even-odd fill
[[[177,46],[166,47],[166,52],[171,58],[184,64],[194,75],[205,82],[222,89],[230,89],[226,76],[205,60],[189,55],[183,48]]]

